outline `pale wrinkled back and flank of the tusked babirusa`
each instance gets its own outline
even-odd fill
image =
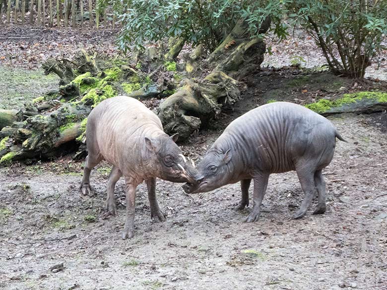
[[[92,139],[102,157],[123,173],[127,169],[136,171],[146,162],[145,137],[165,134],[160,119],[153,112],[126,96],[104,100],[94,108],[88,117],[86,139],[89,129],[95,132]]]

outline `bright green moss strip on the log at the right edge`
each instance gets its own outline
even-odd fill
[[[358,93],[352,93],[352,94],[344,94],[341,98],[335,101],[321,99],[316,103],[305,105],[305,107],[312,111],[315,111],[316,113],[321,114],[321,113],[327,112],[331,108],[337,108],[343,105],[356,103],[364,99],[375,100],[381,103],[387,103],[387,93],[358,92]]]

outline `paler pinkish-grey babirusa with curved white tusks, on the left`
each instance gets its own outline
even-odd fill
[[[125,178],[127,212],[123,239],[133,236],[134,200],[138,184],[145,180],[148,189],[151,218],[164,221],[155,188],[156,177],[173,182],[194,182],[194,164],[187,162],[174,141],[163,131],[160,119],[141,102],[118,96],[101,102],[87,118],[86,157],[81,190],[90,194],[90,172],[101,160],[113,165],[108,179],[107,206],[117,213],[114,187]],[[187,163],[186,163],[187,162]]]

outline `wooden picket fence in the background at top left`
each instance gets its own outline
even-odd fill
[[[0,0],[0,23],[50,27],[115,28],[112,6],[101,7],[104,0]],[[120,0],[118,0],[120,2]]]

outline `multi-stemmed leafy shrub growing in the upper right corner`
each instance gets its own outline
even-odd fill
[[[321,47],[336,74],[363,77],[387,34],[387,1],[287,1],[289,16]]]

